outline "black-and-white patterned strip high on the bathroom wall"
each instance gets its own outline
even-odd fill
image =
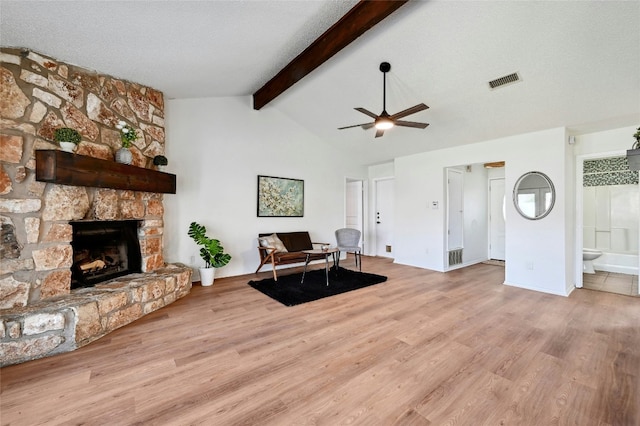
[[[638,184],[638,171],[629,170],[627,157],[587,160],[582,172],[582,186]]]

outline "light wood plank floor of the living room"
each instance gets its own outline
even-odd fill
[[[486,264],[363,265],[388,281],[285,307],[253,274],[216,279],[75,352],[5,367],[0,423],[640,424],[640,299],[508,287]]]

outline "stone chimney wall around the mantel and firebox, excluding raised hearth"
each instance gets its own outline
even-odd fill
[[[35,180],[35,150],[59,149],[56,128],[80,132],[76,154],[113,160],[119,120],[142,136],[132,164],[152,167],[164,153],[162,93],[27,50],[0,55],[0,309],[69,292],[70,220],[143,219],[143,271],[164,266],[162,194]]]

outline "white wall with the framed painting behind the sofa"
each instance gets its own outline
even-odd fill
[[[176,195],[164,197],[166,261],[204,266],[187,236],[192,221],[233,257],[217,277],[255,271],[260,232],[309,231],[312,240],[335,244],[334,231],[344,226],[345,177],[365,179],[366,168],[351,166],[357,162],[277,110],[251,105],[250,97],[167,102],[167,171],[178,184]],[[303,179],[304,217],[258,218],[258,175]]]

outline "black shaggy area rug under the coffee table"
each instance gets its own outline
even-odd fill
[[[336,270],[331,268],[329,286],[327,286],[324,269],[307,271],[302,284],[300,284],[301,279],[302,273],[278,274],[278,281],[267,278],[260,281],[249,281],[249,285],[283,305],[294,306],[379,284],[386,281],[387,277],[344,268],[338,268],[336,274]]]

